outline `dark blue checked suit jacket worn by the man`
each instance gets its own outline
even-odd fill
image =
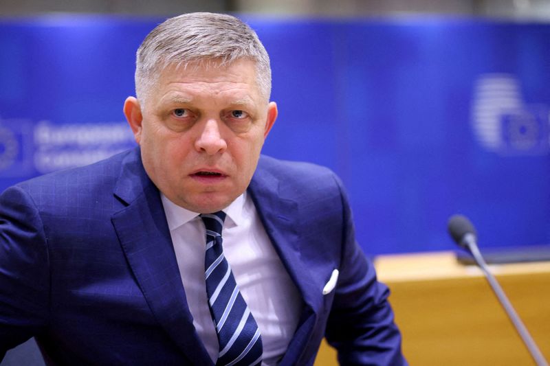
[[[281,364],[311,365],[323,336],[342,364],[404,364],[388,289],[355,242],[336,176],[261,157],[249,192],[303,297]],[[53,365],[212,364],[139,148],[0,196],[0,358],[31,336]]]

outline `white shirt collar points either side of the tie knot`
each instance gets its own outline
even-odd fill
[[[168,229],[174,230],[180,227],[181,225],[186,224],[187,222],[197,218],[199,213],[185,209],[184,207],[178,206],[172,201],[170,201],[164,194],[160,194],[162,200],[162,205],[164,206],[164,213],[166,214],[166,221],[168,222]],[[228,206],[223,209],[225,215],[225,223],[231,223],[234,226],[239,226],[243,222],[243,207],[246,202],[246,191],[241,194],[241,196],[235,198],[235,200]]]

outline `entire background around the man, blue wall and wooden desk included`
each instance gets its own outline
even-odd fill
[[[461,213],[482,251],[548,258],[550,1],[1,0],[0,191],[134,146],[135,50],[195,11],[259,34],[280,112],[264,152],[342,178],[360,245],[386,254],[411,364],[528,365],[479,273],[387,255],[454,250],[446,225]],[[550,268],[526,268],[499,273],[549,354]],[[34,343],[19,350],[2,365],[43,365]]]

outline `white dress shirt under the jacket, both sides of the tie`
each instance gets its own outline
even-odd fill
[[[175,205],[161,194],[179,273],[193,325],[210,358],[219,345],[204,279],[206,231],[199,214]],[[252,199],[246,192],[223,210],[223,253],[262,336],[262,365],[275,365],[296,331],[302,300],[267,237]]]

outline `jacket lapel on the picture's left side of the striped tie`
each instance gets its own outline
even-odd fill
[[[212,364],[192,325],[159,192],[140,150],[124,161],[115,196],[127,206],[111,221],[137,284],[157,321],[195,365]]]

